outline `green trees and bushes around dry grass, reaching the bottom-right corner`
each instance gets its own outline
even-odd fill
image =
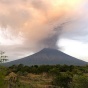
[[[46,73],[53,78],[51,84],[59,88],[88,88],[88,66],[34,65],[29,67],[20,64],[8,67],[7,74],[10,72],[22,76],[28,73]]]

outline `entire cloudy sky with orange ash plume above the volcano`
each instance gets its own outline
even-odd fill
[[[61,50],[88,62],[88,0],[0,0],[0,50],[9,61]]]

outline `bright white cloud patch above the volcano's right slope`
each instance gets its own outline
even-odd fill
[[[63,52],[88,62],[88,43],[71,39],[61,39],[58,45],[63,47]]]

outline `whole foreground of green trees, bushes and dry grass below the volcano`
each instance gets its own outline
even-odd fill
[[[88,66],[0,66],[1,88],[88,88]]]

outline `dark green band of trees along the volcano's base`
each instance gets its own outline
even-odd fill
[[[19,65],[12,65],[8,67],[8,73],[15,72],[15,73],[50,73],[50,74],[58,74],[60,72],[72,72],[72,74],[83,74],[88,73],[88,66],[74,66],[74,65],[34,65],[34,66],[25,66],[23,64]]]

